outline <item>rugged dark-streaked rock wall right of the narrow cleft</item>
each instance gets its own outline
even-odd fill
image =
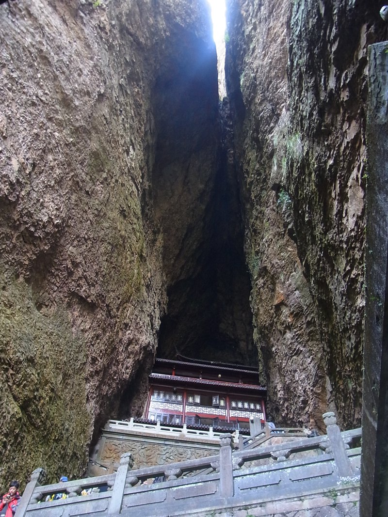
[[[273,417],[360,422],[366,47],[378,2],[230,0],[227,88]]]

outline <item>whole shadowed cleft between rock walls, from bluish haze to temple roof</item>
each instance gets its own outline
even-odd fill
[[[180,40],[152,93],[156,144],[147,203],[163,242],[168,295],[157,356],[257,364],[240,185],[215,49],[195,36]]]

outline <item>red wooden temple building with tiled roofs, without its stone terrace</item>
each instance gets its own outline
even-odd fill
[[[265,422],[266,388],[256,368],[179,358],[156,359],[144,418],[230,429],[248,429],[253,417]]]

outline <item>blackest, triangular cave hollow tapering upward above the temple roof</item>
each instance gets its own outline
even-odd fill
[[[240,199],[226,156],[214,180],[206,233],[191,274],[168,287],[157,356],[258,365]]]

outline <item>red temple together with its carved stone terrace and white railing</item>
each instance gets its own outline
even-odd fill
[[[222,433],[237,446],[241,435],[264,427],[266,388],[257,368],[177,356],[156,359],[149,382],[143,415],[102,429],[89,476],[116,470],[124,452],[133,468],[215,455]]]

